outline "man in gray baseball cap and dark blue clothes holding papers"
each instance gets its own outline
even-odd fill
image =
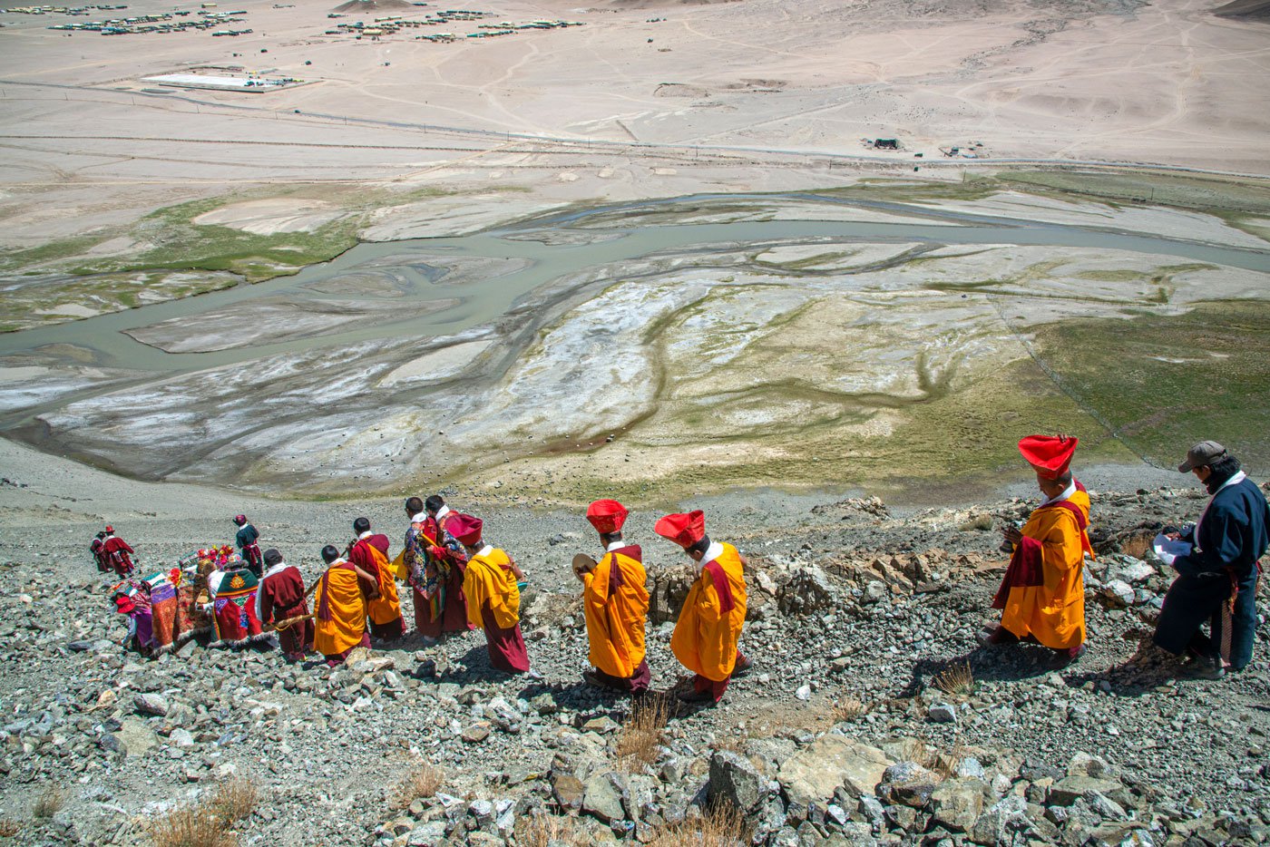
[[[1170,533],[1191,546],[1172,563],[1177,579],[1165,596],[1154,641],[1173,655],[1190,653],[1203,676],[1217,678],[1252,660],[1257,560],[1270,545],[1270,507],[1240,460],[1215,441],[1191,447],[1177,470],[1194,474],[1212,499],[1194,524]],[[1210,636],[1200,631],[1205,620]]]

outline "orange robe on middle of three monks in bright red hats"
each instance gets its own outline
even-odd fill
[[[723,682],[737,664],[737,641],[745,622],[745,574],[740,554],[730,544],[723,545],[723,552],[715,561],[728,579],[733,608],[729,612],[720,608],[714,577],[710,569],[702,568],[688,589],[679,622],[674,625],[671,650],[688,670]]]

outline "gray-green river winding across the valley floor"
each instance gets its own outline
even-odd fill
[[[806,196],[790,196],[806,199]],[[385,337],[431,338],[450,335],[503,315],[516,301],[535,288],[572,273],[599,265],[620,265],[662,251],[709,251],[718,249],[761,251],[785,241],[826,243],[860,241],[869,244],[918,243],[931,245],[1020,245],[1126,250],[1157,257],[1270,272],[1270,253],[1218,246],[1177,239],[1151,237],[1085,226],[1038,223],[1025,220],[978,217],[884,204],[888,212],[917,215],[928,222],[861,221],[742,221],[728,223],[685,223],[622,226],[621,213],[650,208],[673,212],[677,203],[711,199],[704,197],[660,201],[626,207],[599,207],[490,230],[461,237],[415,239],[408,241],[366,243],[337,259],[312,265],[292,277],[278,277],[258,284],[175,300],[85,320],[0,335],[0,356],[24,353],[48,344],[74,344],[98,354],[98,363],[149,372],[188,372],[232,364],[262,356],[301,352],[319,347],[347,345]],[[733,197],[735,199],[735,197]],[[780,197],[765,196],[776,202]],[[819,202],[824,197],[815,197]],[[598,221],[598,223],[597,223]],[[568,232],[574,237],[554,237]],[[486,278],[438,278],[438,259],[519,260],[518,269]],[[429,264],[431,263],[431,264]],[[443,262],[442,262],[443,264]],[[359,274],[391,274],[399,287],[396,296],[419,301],[456,301],[425,315],[403,319],[361,321],[340,331],[291,338],[281,343],[197,352],[169,353],[144,344],[128,330],[171,319],[188,319],[226,306],[265,297],[286,296],[330,300],[315,286]]]

